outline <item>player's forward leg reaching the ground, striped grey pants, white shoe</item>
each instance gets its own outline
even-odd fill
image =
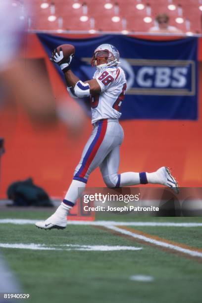
[[[100,165],[112,145],[110,126],[107,120],[101,121],[93,129],[79,164],[77,165],[72,183],[64,197],[63,202],[46,221],[37,222],[36,226],[44,229],[65,228],[68,211],[74,206],[76,200],[85,190],[90,173]]]

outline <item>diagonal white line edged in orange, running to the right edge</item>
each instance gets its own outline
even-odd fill
[[[169,244],[169,243],[162,242],[162,241],[157,241],[157,240],[153,239],[152,237],[150,238],[150,237],[146,237],[146,236],[143,236],[143,235],[139,235],[139,234],[136,234],[135,232],[133,233],[131,231],[128,231],[126,229],[122,229],[122,228],[119,228],[119,227],[116,227],[116,226],[113,226],[113,225],[111,225],[111,226],[107,225],[105,227],[108,228],[108,229],[114,230],[116,232],[119,232],[123,235],[131,236],[133,238],[142,240],[142,241],[147,242],[147,243],[154,244],[156,246],[160,246],[160,247],[163,247],[163,248],[166,248],[166,249],[171,249],[171,250],[174,250],[174,251],[177,251],[177,252],[180,252],[180,253],[185,253],[185,254],[189,254],[191,256],[202,258],[202,253],[197,252],[197,251],[191,251],[189,249],[185,249],[185,248],[182,248],[182,247],[177,246],[177,245]]]

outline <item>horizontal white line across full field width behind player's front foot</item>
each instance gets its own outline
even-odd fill
[[[0,224],[35,224],[40,220],[27,220],[27,219],[0,219]],[[42,221],[42,220],[41,220]],[[174,223],[174,222],[118,222],[118,221],[67,221],[68,225],[96,225],[96,226],[168,226],[168,227],[202,227],[202,223],[187,222],[187,223]]]

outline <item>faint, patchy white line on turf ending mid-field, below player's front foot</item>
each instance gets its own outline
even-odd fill
[[[58,248],[59,247],[59,248]],[[24,244],[24,243],[0,243],[0,248],[24,249],[35,251],[94,251],[94,252],[111,252],[111,251],[140,251],[142,247],[134,246],[108,246],[108,245],[44,245],[44,244]]]

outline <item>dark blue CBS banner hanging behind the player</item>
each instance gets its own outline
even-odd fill
[[[95,72],[90,64],[94,50],[103,43],[114,45],[127,78],[121,119],[198,118],[197,38],[156,42],[117,35],[89,39],[47,34],[38,37],[49,56],[61,44],[74,45],[71,69],[82,81],[92,79]],[[84,102],[90,106],[88,100]]]

